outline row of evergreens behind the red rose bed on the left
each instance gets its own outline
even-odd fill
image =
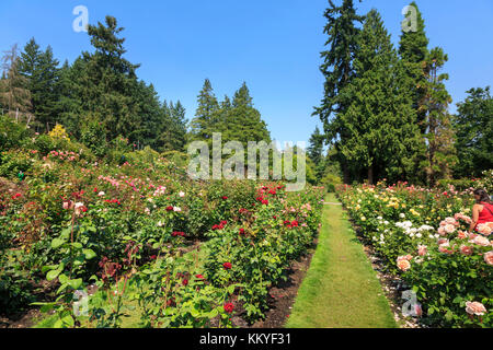
[[[42,49],[32,38],[19,54],[5,51],[0,79],[0,110],[27,122],[36,132],[62,125],[70,137],[91,148],[110,144],[119,136],[138,148],[185,152],[195,140],[271,141],[266,124],[253,107],[244,83],[231,101],[218,102],[209,80],[198,96],[192,122],[177,102],[161,101],[152,84],[137,77],[139,65],[125,59],[124,28],[116,19],[88,28],[92,52],[82,52],[71,65]]]

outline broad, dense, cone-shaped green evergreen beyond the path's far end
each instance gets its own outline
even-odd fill
[[[380,14],[371,10],[359,36],[355,78],[341,91],[347,105],[339,118],[347,128],[340,150],[354,174],[403,178],[413,171],[421,135],[406,77]],[[356,178],[360,179],[360,178]]]

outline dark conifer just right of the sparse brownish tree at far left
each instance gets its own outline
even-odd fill
[[[43,52],[32,38],[21,54],[19,71],[27,80],[36,129],[49,131],[58,121],[59,68],[51,47]]]

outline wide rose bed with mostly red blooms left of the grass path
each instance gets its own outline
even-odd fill
[[[129,304],[144,327],[230,327],[233,315],[263,317],[268,288],[313,242],[323,191],[196,183],[164,159],[127,159],[114,166],[71,151],[36,152],[20,179],[15,152],[3,156],[5,311],[35,301],[26,285],[46,280],[50,302],[37,304],[56,312],[55,327],[118,327]],[[74,295],[93,289],[87,313],[74,313]],[[20,303],[7,310],[12,300]]]

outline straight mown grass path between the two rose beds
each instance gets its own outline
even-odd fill
[[[335,195],[323,211],[319,246],[287,328],[395,328],[376,272]]]

